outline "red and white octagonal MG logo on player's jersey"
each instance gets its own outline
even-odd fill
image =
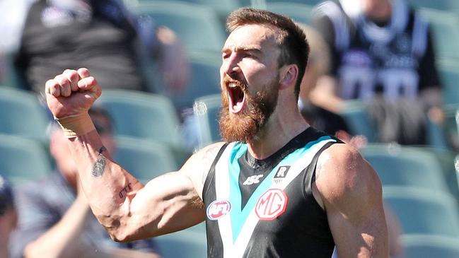
[[[255,205],[255,213],[262,221],[272,221],[284,213],[288,197],[281,189],[268,189]]]

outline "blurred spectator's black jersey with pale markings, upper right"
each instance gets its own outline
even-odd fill
[[[414,99],[419,91],[439,86],[428,24],[405,0],[393,0],[390,20],[378,24],[364,13],[348,16],[342,7],[325,1],[316,10],[341,98]]]

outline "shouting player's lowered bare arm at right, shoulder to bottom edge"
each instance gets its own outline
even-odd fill
[[[324,151],[314,190],[327,212],[339,258],[388,257],[380,180],[357,151],[345,144]]]

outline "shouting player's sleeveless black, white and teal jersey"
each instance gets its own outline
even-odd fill
[[[335,242],[311,184],[318,156],[337,142],[310,127],[265,160],[245,143],[223,146],[203,190],[208,257],[331,257]]]

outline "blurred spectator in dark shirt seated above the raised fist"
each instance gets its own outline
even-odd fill
[[[36,93],[65,69],[87,67],[103,88],[153,89],[141,74],[154,58],[170,90],[189,76],[185,52],[175,34],[149,17],[134,18],[120,0],[39,0],[30,7],[17,66]]]

